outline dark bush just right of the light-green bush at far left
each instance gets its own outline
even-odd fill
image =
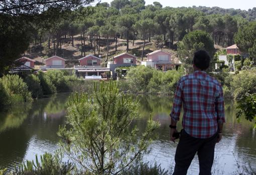
[[[40,80],[36,75],[28,75],[24,80],[27,85],[29,91],[32,93],[33,98],[41,98],[43,96],[43,89],[40,85]]]

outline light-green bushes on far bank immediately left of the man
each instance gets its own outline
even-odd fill
[[[176,83],[183,75],[182,67],[178,71],[169,70],[166,73],[151,67],[131,67],[126,76],[127,84],[124,86],[126,91],[132,93],[173,94]]]

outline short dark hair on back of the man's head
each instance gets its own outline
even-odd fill
[[[210,61],[211,61],[211,58],[210,58],[208,52],[203,51],[203,50],[199,50],[199,51],[195,52],[194,58],[193,58],[193,64],[197,68],[199,68],[201,70],[208,69],[208,67],[210,66]]]

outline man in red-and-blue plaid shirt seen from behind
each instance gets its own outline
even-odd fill
[[[222,137],[225,122],[221,84],[206,72],[210,56],[197,51],[193,58],[194,73],[183,76],[176,88],[171,116],[171,140],[175,141],[176,123],[183,104],[183,129],[175,154],[173,174],[186,174],[196,152],[200,173],[211,174],[215,143]]]

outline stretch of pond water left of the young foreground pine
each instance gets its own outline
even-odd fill
[[[56,132],[64,124],[68,95],[39,99],[0,114],[0,168],[12,168],[25,159],[35,158],[36,153],[57,148]]]

